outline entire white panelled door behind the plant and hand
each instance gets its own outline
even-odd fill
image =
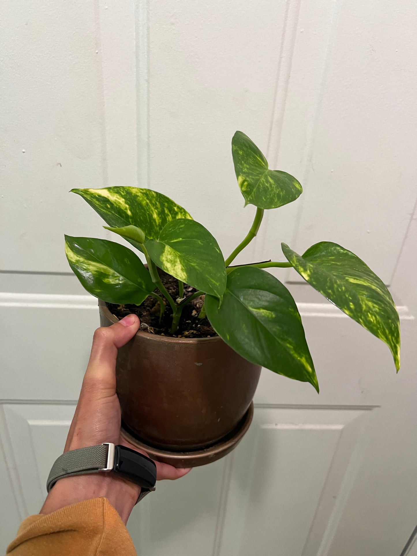
[[[395,375],[382,342],[299,275],[277,271],[299,305],[320,395],[262,371],[254,423],[235,452],[158,484],[135,508],[138,554],[412,554],[415,3],[36,0],[0,9],[0,550],[42,504],[98,325],[63,233],[107,232],[67,191],[155,188],[227,255],[254,216],[231,162],[240,129],[304,193],[269,212],[238,262],[279,259],[281,241],[299,252],[320,240],[354,251],[398,304],[403,364]]]

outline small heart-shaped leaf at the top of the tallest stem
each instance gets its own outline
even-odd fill
[[[301,195],[302,187],[295,177],[280,170],[269,170],[265,156],[241,131],[236,131],[232,138],[232,156],[245,206],[276,209]]]

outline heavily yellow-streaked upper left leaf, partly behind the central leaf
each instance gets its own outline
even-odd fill
[[[115,186],[71,191],[85,198],[109,226],[137,226],[152,239],[158,239],[163,227],[171,220],[191,219],[180,205],[151,189]],[[130,241],[137,246],[137,242]]]

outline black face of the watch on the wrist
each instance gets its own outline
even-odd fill
[[[143,488],[153,488],[156,483],[156,465],[153,461],[125,446],[115,446],[115,466],[121,473]]]

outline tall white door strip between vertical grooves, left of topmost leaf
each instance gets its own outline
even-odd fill
[[[149,187],[186,206],[219,240],[225,256],[255,215],[255,207],[243,209],[230,142],[239,129],[267,150],[280,48],[285,33],[291,42],[287,24],[294,24],[287,22],[288,4],[293,3],[149,4],[150,140],[140,160],[149,163]],[[290,209],[280,215],[290,229],[291,214]]]

